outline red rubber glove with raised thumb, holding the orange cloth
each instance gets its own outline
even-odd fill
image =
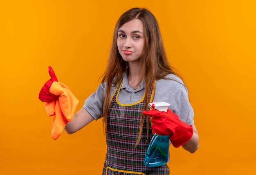
[[[51,79],[45,82],[38,96],[42,102],[51,102],[56,97],[56,95],[50,93],[49,89],[52,86],[52,82],[57,82],[58,79],[51,66],[48,67],[48,71]]]

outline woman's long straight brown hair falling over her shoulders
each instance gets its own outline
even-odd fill
[[[129,22],[133,19],[139,19],[143,23],[144,27],[144,51],[141,55],[141,80],[145,80],[146,82],[146,89],[145,89],[145,104],[143,110],[148,108],[148,99],[150,93],[150,87],[154,86],[154,81],[164,78],[168,74],[175,74],[173,68],[168,63],[166,58],[166,53],[164,49],[164,44],[162,42],[162,36],[160,33],[160,29],[158,26],[158,22],[155,16],[148,10],[148,9],[140,9],[140,8],[133,8],[126,11],[117,21],[115,26],[115,31],[113,35],[112,46],[110,49],[110,55],[108,59],[108,66],[103,75],[103,79],[101,82],[106,82],[106,93],[104,97],[104,111],[103,111],[103,124],[105,126],[105,131],[108,130],[107,128],[107,116],[108,116],[108,109],[110,106],[110,90],[112,86],[116,86],[122,79],[123,74],[128,67],[128,62],[125,62],[121,55],[119,54],[117,48],[117,32],[122,25],[126,22]],[[154,95],[154,94],[152,94]],[[148,117],[142,115],[141,113],[141,121],[140,121],[140,131],[137,139],[137,144],[141,139],[142,127],[144,120],[148,120]],[[149,122],[148,122],[149,123]],[[149,126],[148,126],[148,133]]]

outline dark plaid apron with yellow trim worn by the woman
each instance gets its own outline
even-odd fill
[[[151,124],[150,120],[144,121],[141,140],[135,148],[140,115],[145,103],[144,96],[135,104],[121,104],[117,100],[121,85],[122,83],[117,86],[108,111],[107,154],[102,175],[169,175],[166,164],[158,167],[144,165],[148,144],[153,136],[152,132],[149,132],[147,140],[147,124],[149,131]]]

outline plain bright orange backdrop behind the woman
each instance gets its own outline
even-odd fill
[[[106,68],[115,23],[132,7],[156,16],[195,111],[200,148],[171,147],[171,174],[255,173],[255,0],[13,0],[0,2],[0,174],[101,174],[101,120],[53,140],[38,92],[52,66],[80,109]]]

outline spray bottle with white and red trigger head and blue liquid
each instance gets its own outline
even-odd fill
[[[152,102],[148,103],[148,106],[151,107],[151,110],[167,112],[170,104],[166,102]],[[155,167],[167,164],[169,161],[169,145],[168,135],[157,135],[154,133],[145,155],[144,165]]]

